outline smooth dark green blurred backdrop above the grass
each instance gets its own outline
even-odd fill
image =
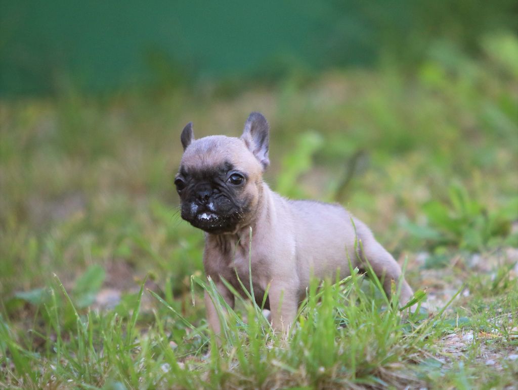
[[[278,79],[294,71],[419,62],[444,39],[471,53],[513,29],[516,2],[397,0],[153,3],[0,2],[2,95],[193,81]]]

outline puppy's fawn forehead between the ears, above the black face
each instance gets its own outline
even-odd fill
[[[239,138],[210,136],[193,141],[180,162],[180,173],[228,172],[233,169],[253,173],[260,164]]]

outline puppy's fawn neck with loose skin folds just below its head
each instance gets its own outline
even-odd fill
[[[253,237],[261,236],[270,231],[270,224],[275,220],[272,191],[266,183],[261,184],[261,191],[251,217],[241,223],[234,232],[221,234],[206,234],[207,244],[218,248],[222,254],[234,250],[249,250],[250,230]]]

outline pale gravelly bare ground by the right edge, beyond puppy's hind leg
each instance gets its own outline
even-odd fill
[[[429,255],[420,254],[416,259],[424,263],[426,256]],[[462,291],[446,311],[447,316],[452,316],[459,307],[468,307],[473,296],[479,295],[480,298],[481,294],[480,291],[471,291],[469,278],[486,277],[493,282],[498,277],[499,270],[501,272],[501,269],[506,267],[509,268],[507,280],[516,283],[518,249],[508,247],[482,254],[457,255],[444,268],[422,269],[419,278],[421,285],[427,288],[427,306],[430,314],[438,313],[459,289]],[[481,298],[483,299],[483,296]],[[444,335],[437,342],[438,353],[434,357],[442,364],[443,370],[448,370],[456,362],[468,358],[470,365],[488,366],[497,371],[518,361],[518,326],[515,326],[517,314],[505,312],[504,309],[496,311],[496,316],[484,319],[484,323],[488,325],[486,329],[473,331],[470,327],[461,326],[459,329],[456,326],[454,333]],[[502,329],[506,329],[505,334]]]

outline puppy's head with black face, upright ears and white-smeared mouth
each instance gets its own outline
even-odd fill
[[[269,126],[253,112],[240,138],[194,139],[192,123],[182,131],[183,156],[175,185],[182,218],[208,233],[235,232],[250,223],[262,197],[269,165]]]

